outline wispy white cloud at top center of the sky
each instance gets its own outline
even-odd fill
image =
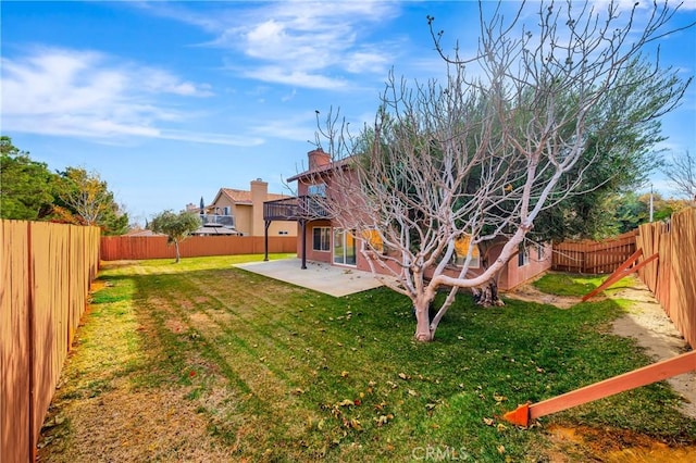
[[[384,76],[398,43],[365,42],[378,23],[399,14],[397,2],[285,1],[215,5],[202,13],[182,4],[148,4],[148,11],[194,24],[214,38],[207,43],[241,53],[231,68],[268,83],[345,89],[350,74]]]

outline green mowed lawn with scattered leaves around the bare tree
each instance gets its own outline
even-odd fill
[[[482,309],[462,295],[436,341],[418,343],[403,297],[376,289],[336,299],[232,266],[245,259],[105,266],[58,392],[65,414],[74,401],[108,403],[117,388],[166,390],[203,423],[200,445],[229,461],[545,461],[554,423],[696,442],[696,422],[675,411],[664,383],[529,429],[501,421],[519,403],[649,363],[608,334],[621,313],[612,300]],[[64,442],[46,447],[49,461],[70,461],[86,445],[76,418],[61,426],[47,431]],[[129,456],[169,461],[181,451]]]

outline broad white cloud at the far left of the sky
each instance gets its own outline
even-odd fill
[[[166,130],[192,111],[161,101],[209,97],[209,85],[176,77],[164,70],[115,62],[94,51],[35,49],[22,58],[2,59],[2,125],[5,132],[77,136],[96,140],[123,137],[187,139],[251,146],[261,140],[215,134]]]

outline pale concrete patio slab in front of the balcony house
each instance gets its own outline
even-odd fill
[[[307,268],[302,270],[301,262],[300,259],[282,259],[235,266],[336,298],[383,286],[370,272],[319,262],[307,262]]]

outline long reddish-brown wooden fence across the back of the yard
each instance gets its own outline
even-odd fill
[[[192,236],[179,243],[182,258],[263,253],[262,236]],[[174,259],[165,236],[104,236],[101,260]],[[297,252],[297,237],[269,237],[269,252]]]

